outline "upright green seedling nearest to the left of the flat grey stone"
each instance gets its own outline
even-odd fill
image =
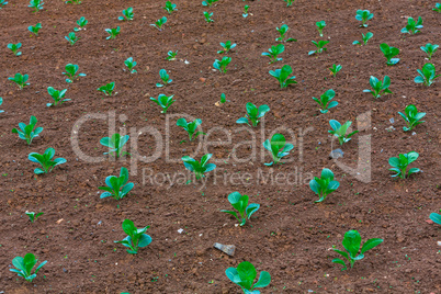
[[[127,247],[128,253],[136,255],[139,248],[147,247],[151,242],[151,237],[145,234],[149,227],[136,228],[131,219],[124,219],[123,230],[128,236],[124,240],[115,242]]]

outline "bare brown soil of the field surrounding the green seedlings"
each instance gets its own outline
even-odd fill
[[[225,275],[228,267],[248,260],[258,271],[269,271],[271,285],[262,293],[441,293],[441,240],[440,226],[426,223],[440,206],[440,81],[427,88],[412,80],[416,69],[425,63],[420,46],[440,43],[441,14],[431,10],[436,1],[325,1],[297,0],[286,8],[282,0],[238,1],[219,0],[211,9],[201,0],[176,0],[179,11],[168,16],[166,29],[157,31],[150,23],[166,15],[161,9],[166,1],[103,1],[84,0],[80,5],[64,1],[46,1],[45,9],[31,13],[27,1],[10,1],[0,10],[1,92],[3,104],[1,121],[1,191],[0,222],[0,291],[4,293],[239,293]],[[247,19],[241,16],[245,4],[250,5]],[[117,16],[133,7],[135,20],[118,22]],[[359,29],[354,19],[358,9],[369,9],[375,14],[369,29]],[[206,24],[203,11],[214,12],[213,24]],[[422,33],[400,34],[405,16],[421,15]],[[87,30],[77,33],[81,39],[68,45],[64,38],[80,16],[89,20]],[[325,37],[329,37],[328,52],[308,56],[317,41],[317,21],[325,20]],[[38,37],[30,36],[29,25],[43,23]],[[287,35],[298,39],[285,44],[283,61],[268,65],[261,56],[278,36],[275,27],[286,23]],[[121,35],[106,41],[104,29],[121,26]],[[361,33],[373,32],[366,46],[351,45],[361,39]],[[228,72],[213,71],[214,59],[220,56],[219,42],[230,39],[237,47]],[[23,55],[13,56],[7,45],[23,44]],[[398,47],[400,61],[387,67],[378,45],[387,43]],[[168,50],[179,50],[178,58],[165,59]],[[124,60],[134,57],[138,63],[137,75],[124,71]],[[432,63],[441,70],[441,52]],[[183,60],[190,61],[184,64]],[[61,75],[66,64],[78,64],[80,72],[88,76],[72,84]],[[270,77],[269,70],[291,65],[298,84],[281,90]],[[341,64],[337,78],[328,68]],[[170,71],[173,82],[162,89],[159,69]],[[29,74],[31,86],[20,91],[8,81],[15,72]],[[363,89],[369,88],[369,77],[392,79],[394,94],[378,100]],[[117,94],[103,98],[97,88],[116,81]],[[47,87],[68,88],[67,98],[72,101],[54,109]],[[312,97],[335,89],[339,105],[328,114],[320,114]],[[220,93],[227,102],[217,108]],[[136,185],[128,196],[116,202],[100,200],[98,186],[105,177],[116,174],[121,167],[129,168],[129,161],[86,162],[74,152],[70,137],[75,122],[84,114],[108,114],[115,111],[127,116],[125,123],[116,121],[116,129],[145,126],[157,128],[165,139],[165,115],[149,100],[159,93],[174,94],[177,102],[170,114],[185,113],[202,118],[204,131],[219,126],[231,131],[229,145],[211,147],[213,158],[224,158],[217,163],[217,177],[249,172],[249,182],[214,183],[213,172],[207,184],[163,185],[147,182],[143,185],[142,169],[151,172],[184,172],[181,162],[167,162],[165,155],[151,163],[139,162],[137,176],[129,181]],[[236,133],[237,118],[244,115],[246,102],[268,104],[271,111],[265,117],[265,137],[260,128],[257,142],[261,142],[276,127],[286,126],[295,132],[314,127],[303,138],[303,159],[298,155],[298,137],[295,160],[273,169],[274,174],[293,172],[297,168],[303,180],[296,184],[263,183],[256,180],[258,170],[265,174],[270,168],[261,160],[236,162],[229,156],[233,146],[249,140],[247,132]],[[415,103],[427,112],[426,123],[415,135],[403,132],[398,111]],[[437,111],[438,108],[438,111]],[[360,132],[342,146],[342,161],[352,167],[358,161],[360,136],[371,135],[372,181],[363,183],[346,173],[328,159],[331,140],[327,134],[328,121],[355,121],[359,114],[372,111],[372,126]],[[29,122],[31,115],[38,118],[44,131],[31,146],[19,139],[11,129],[20,122]],[[395,131],[389,118],[394,117]],[[180,158],[196,149],[195,143],[182,143],[184,132],[171,120],[170,156]],[[105,121],[93,120],[79,132],[81,149],[89,156],[102,156],[105,148],[100,138],[109,136]],[[213,133],[211,142],[225,140],[226,135]],[[139,154],[150,156],[155,150],[152,136],[140,135]],[[52,173],[35,176],[36,165],[27,160],[31,151],[43,152],[54,147],[56,157],[67,163],[56,167]],[[412,165],[423,170],[407,180],[391,178],[387,160],[399,152],[416,150],[420,158]],[[239,158],[250,150],[238,148]],[[196,158],[201,157],[200,152]],[[260,157],[258,157],[260,158]],[[269,160],[269,157],[265,157]],[[340,159],[341,160],[341,159]],[[307,184],[308,176],[318,176],[323,168],[330,168],[340,181],[340,188],[321,204]],[[133,170],[132,170],[133,172]],[[239,174],[240,174],[239,173]],[[217,178],[219,179],[219,178]],[[157,179],[161,181],[160,178]],[[233,191],[250,195],[261,208],[245,227],[236,227],[235,219],[219,212],[229,208],[227,195]],[[31,224],[25,211],[42,211],[35,224]],[[114,244],[125,237],[121,224],[129,218],[138,227],[149,225],[151,245],[137,256],[126,253]],[[59,219],[64,219],[58,222]],[[179,234],[178,229],[183,233]],[[349,271],[331,263],[338,256],[332,246],[342,248],[342,236],[349,229],[358,229],[363,240],[384,238],[384,242],[366,253],[362,261]],[[237,246],[236,256],[214,249],[213,242]],[[33,283],[27,283],[10,272],[11,260],[26,252],[35,253],[48,263]]]

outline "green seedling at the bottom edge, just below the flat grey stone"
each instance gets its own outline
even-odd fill
[[[260,272],[258,282],[252,285],[256,280],[257,271],[251,262],[242,261],[235,268],[228,268],[225,271],[228,279],[239,285],[245,294],[260,294],[260,291],[255,290],[258,287],[265,287],[271,283],[271,274],[269,272]]]

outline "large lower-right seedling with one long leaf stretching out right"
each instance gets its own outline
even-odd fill
[[[344,234],[344,238],[342,241],[342,245],[347,252],[338,250],[338,249],[333,249],[333,251],[336,251],[343,258],[348,259],[351,264],[351,269],[352,269],[353,263],[355,263],[355,260],[363,259],[364,252],[375,248],[376,246],[381,245],[382,242],[383,242],[383,239],[380,239],[380,238],[369,239],[361,247],[361,252],[359,255],[360,246],[361,246],[361,236],[357,230],[348,230]],[[346,265],[344,261],[342,261],[341,259],[339,259],[339,258],[332,259],[332,262],[343,265],[343,268],[341,269],[342,271],[348,270],[348,267]]]

